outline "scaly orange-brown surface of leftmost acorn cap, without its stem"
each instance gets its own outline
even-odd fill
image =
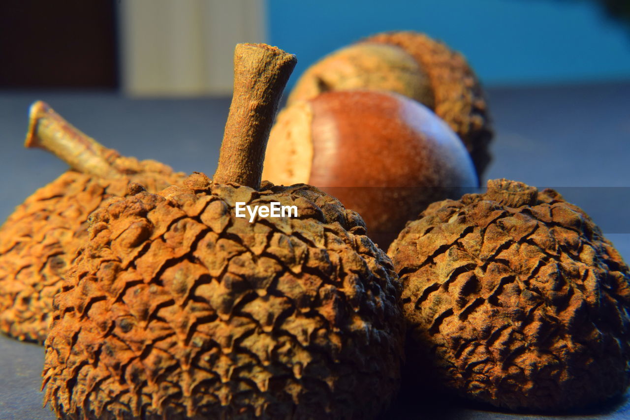
[[[67,171],[26,198],[0,228],[0,330],[9,336],[45,340],[52,298],[88,237],[89,213],[124,195],[130,182],[159,191],[184,179],[159,162],[113,157],[126,176],[98,179]]]

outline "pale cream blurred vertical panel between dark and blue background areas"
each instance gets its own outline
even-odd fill
[[[265,3],[120,2],[123,91],[132,96],[231,94],[234,46],[266,41]]]

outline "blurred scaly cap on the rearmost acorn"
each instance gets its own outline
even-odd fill
[[[379,33],[362,42],[397,45],[418,61],[433,88],[433,111],[462,139],[481,178],[491,160],[492,130],[483,90],[464,56],[412,31]]]

